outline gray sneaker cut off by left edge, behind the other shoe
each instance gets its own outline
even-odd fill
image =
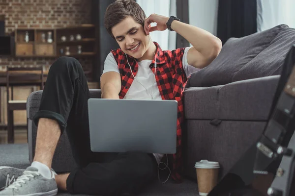
[[[0,191],[12,184],[24,171],[7,166],[0,167]]]

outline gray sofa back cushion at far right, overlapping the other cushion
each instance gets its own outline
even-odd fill
[[[280,74],[286,55],[294,44],[294,28],[280,32],[269,47],[236,72],[233,81]]]

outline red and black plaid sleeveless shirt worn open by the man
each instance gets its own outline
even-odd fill
[[[181,154],[181,124],[184,120],[183,114],[183,103],[182,103],[182,92],[184,90],[185,84],[187,82],[187,77],[182,66],[182,57],[184,53],[184,48],[175,50],[165,50],[162,51],[160,46],[154,42],[156,51],[156,82],[160,91],[162,99],[177,100],[177,152],[170,156],[169,159],[173,160],[171,176],[177,182],[180,182],[181,171],[182,171],[182,154]],[[119,98],[124,98],[128,89],[130,88],[134,78],[132,76],[129,65],[127,64],[126,55],[121,49],[112,50],[115,60],[118,62],[118,68],[121,75],[121,91],[119,93]],[[128,56],[129,64],[132,68],[134,76],[138,71],[138,64],[135,58],[130,55]],[[154,60],[149,65],[149,68],[154,73]],[[170,161],[171,162],[171,161]]]

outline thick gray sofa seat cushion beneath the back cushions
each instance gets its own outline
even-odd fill
[[[186,119],[265,121],[280,76],[273,75],[184,91]]]

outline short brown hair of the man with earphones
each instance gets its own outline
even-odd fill
[[[147,18],[144,10],[135,0],[116,0],[107,7],[104,25],[113,38],[113,26],[117,25],[128,16],[132,16],[133,19],[142,26],[144,26]]]

